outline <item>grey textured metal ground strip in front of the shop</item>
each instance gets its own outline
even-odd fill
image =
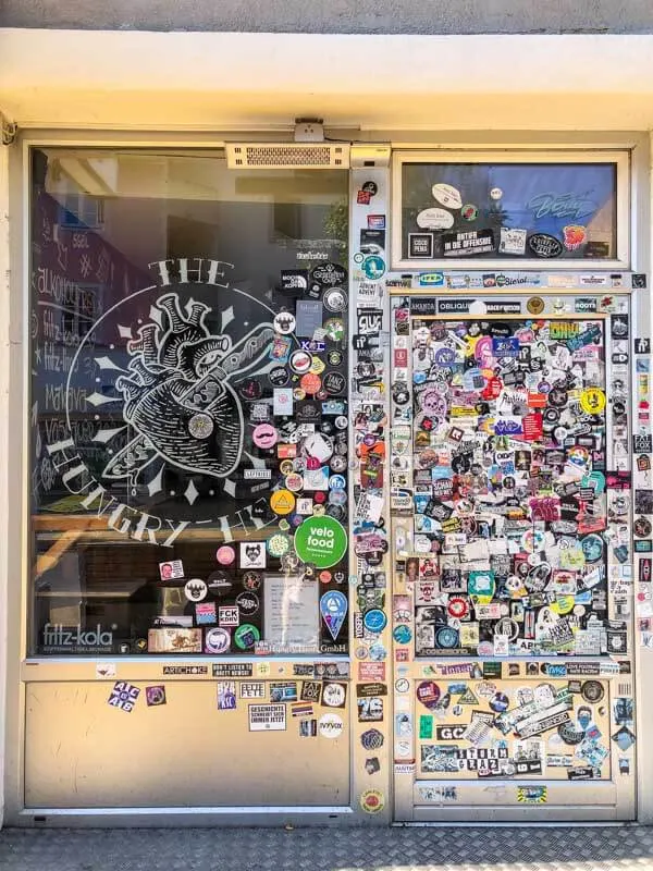
[[[10,829],[0,869],[653,871],[653,829]]]

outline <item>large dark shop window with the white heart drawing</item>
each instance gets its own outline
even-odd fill
[[[347,184],[32,155],[32,654],[345,653]]]

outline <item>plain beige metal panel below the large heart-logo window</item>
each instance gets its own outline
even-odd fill
[[[139,703],[131,713],[108,704],[111,686],[27,685],[27,807],[349,801],[347,711],[338,738],[305,738],[289,704],[285,731],[249,732],[248,704],[266,700],[238,692],[236,710],[218,710],[214,682],[171,682],[167,704]]]

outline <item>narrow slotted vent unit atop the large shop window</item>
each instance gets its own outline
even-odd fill
[[[349,146],[316,143],[274,144],[251,143],[226,146],[230,170],[346,170],[349,168]]]

